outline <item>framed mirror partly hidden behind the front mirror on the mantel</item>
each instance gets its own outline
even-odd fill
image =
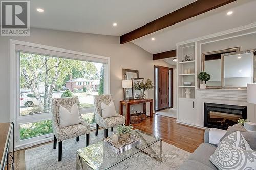
[[[207,88],[222,88],[221,56],[222,54],[238,52],[239,50],[239,47],[235,47],[202,54],[202,71],[207,72],[211,77],[206,83]]]

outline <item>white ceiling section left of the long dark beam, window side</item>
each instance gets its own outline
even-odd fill
[[[31,26],[121,36],[195,0],[33,0]],[[45,10],[43,13],[36,8]],[[112,24],[116,22],[117,27]]]

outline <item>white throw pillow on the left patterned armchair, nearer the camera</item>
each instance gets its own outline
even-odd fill
[[[81,123],[77,104],[70,108],[70,112],[63,106],[59,106],[59,125],[62,127]]]

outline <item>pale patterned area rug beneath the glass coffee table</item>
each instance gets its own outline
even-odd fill
[[[109,136],[111,134],[112,132],[109,132]],[[98,136],[95,136],[95,132],[91,132],[90,144],[102,141],[103,136],[103,130],[99,130]],[[84,135],[80,137],[79,142],[76,142],[76,138],[63,141],[62,161],[60,162],[58,162],[57,148],[53,149],[53,143],[28,149],[25,151],[26,169],[76,169],[76,150],[85,147],[85,145]],[[178,169],[189,155],[189,152],[163,142],[162,162],[158,162],[146,154],[139,153],[139,155],[126,159],[111,169]]]

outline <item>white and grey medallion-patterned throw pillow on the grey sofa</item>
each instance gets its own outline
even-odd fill
[[[220,142],[214,154],[210,156],[210,161],[219,170],[256,170],[256,151],[253,151],[243,135],[236,131]]]

